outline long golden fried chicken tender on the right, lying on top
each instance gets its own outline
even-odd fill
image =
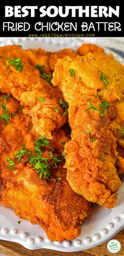
[[[67,180],[88,201],[112,208],[121,186],[115,164],[123,168],[116,141],[123,147],[124,67],[102,53],[65,57],[55,66],[53,84],[69,105]]]

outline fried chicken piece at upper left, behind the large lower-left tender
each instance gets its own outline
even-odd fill
[[[45,65],[45,72],[51,75],[48,66],[49,54],[42,50],[23,50],[18,46],[1,47],[0,49],[0,90],[2,93],[12,94],[21,100],[24,113],[32,117],[33,129],[41,135],[52,139],[52,131],[67,121],[65,110],[60,106],[63,95],[59,88],[53,88],[48,81],[40,76],[39,70],[33,66]],[[14,56],[22,59],[23,69],[20,73],[14,65],[9,65],[7,58]],[[43,98],[43,101],[39,101]],[[39,99],[39,100],[38,100]],[[30,102],[32,101],[32,104]],[[46,126],[47,120],[47,126]]]

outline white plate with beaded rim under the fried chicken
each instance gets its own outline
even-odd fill
[[[82,39],[84,40],[84,38]],[[47,50],[60,48],[77,48],[82,43],[80,38],[0,38],[0,46],[8,44],[20,44],[24,48],[42,47]],[[85,38],[86,41],[86,38]],[[94,43],[100,44],[101,38],[94,38]],[[122,42],[121,42],[122,43]],[[107,46],[107,41],[102,39],[102,45]],[[108,45],[115,47],[114,39],[109,38]],[[123,45],[123,43],[122,43]],[[122,49],[122,47],[120,48]],[[106,49],[106,53],[111,51]],[[115,58],[124,64],[121,56],[113,53]],[[53,249],[64,252],[74,252],[95,247],[106,242],[124,228],[124,177],[119,190],[118,202],[113,209],[106,209],[92,205],[92,212],[82,224],[82,231],[77,239],[63,242],[51,242],[46,233],[38,225],[32,225],[29,221],[20,220],[12,209],[0,206],[0,239],[22,244],[30,250]]]

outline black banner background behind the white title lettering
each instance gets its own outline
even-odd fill
[[[86,34],[95,34],[95,37],[124,37],[124,7],[123,7],[123,4],[122,3],[119,3],[119,1],[116,2],[116,4],[111,4],[109,2],[109,4],[106,4],[105,2],[99,2],[97,3],[96,1],[93,1],[92,4],[89,4],[88,1],[82,1],[82,4],[78,2],[75,2],[75,4],[71,4],[70,3],[65,3],[65,5],[73,5],[73,6],[77,6],[77,5],[82,5],[82,6],[86,6],[86,5],[105,5],[105,6],[111,6],[113,8],[116,8],[116,5],[119,5],[120,6],[120,16],[119,18],[117,16],[115,16],[113,14],[113,17],[97,17],[97,18],[94,18],[94,17],[71,17],[70,15],[68,17],[65,17],[65,18],[62,18],[60,17],[59,15],[57,15],[56,17],[54,18],[51,18],[51,17],[48,17],[48,16],[45,16],[45,17],[42,17],[40,18],[39,16],[39,10],[35,10],[35,17],[30,17],[30,16],[27,16],[27,17],[20,17],[20,18],[17,18],[17,17],[5,17],[5,5],[10,5],[10,6],[14,6],[14,5],[21,5],[21,6],[25,6],[25,5],[30,5],[30,6],[33,6],[33,5],[38,5],[38,7],[40,6],[43,6],[43,5],[46,5],[45,2],[41,2],[41,4],[39,5],[37,2],[36,3],[31,3],[31,1],[26,1],[25,4],[22,4],[21,2],[18,2],[16,1],[16,3],[12,3],[12,2],[7,2],[5,1],[4,4],[1,4],[1,9],[0,9],[0,37],[28,37],[29,35],[28,34],[33,34],[35,36],[35,34],[38,36],[42,36],[41,34],[84,34],[84,37],[86,36]],[[61,6],[61,4],[59,3],[58,5],[56,5],[55,3],[51,2],[49,5],[46,5],[46,7],[50,6],[50,5],[55,5],[55,6]],[[65,6],[63,5],[63,6]],[[77,10],[77,14],[78,14],[78,10]],[[27,22],[30,24],[30,29],[27,30],[27,32],[24,32],[24,31],[7,31],[7,29],[5,31],[3,31],[3,22],[13,22],[13,23],[19,23],[19,22]],[[37,31],[35,30],[35,23],[37,22],[44,22],[44,25],[46,25],[46,22],[50,22],[50,23],[53,23],[53,22],[59,22],[59,23],[66,23],[66,22],[73,22],[75,24],[75,22],[77,22],[77,32],[75,30],[72,30],[71,32],[70,31],[65,31],[65,32],[62,32],[61,30],[59,30],[59,32],[57,31],[47,31],[45,28],[44,28],[44,32],[42,31]],[[95,25],[95,22],[119,22],[121,23],[121,31],[119,32],[118,30],[117,31],[109,31],[108,29],[104,30],[104,26],[100,26],[100,31],[98,32],[97,30],[94,31],[93,29],[90,29],[90,31],[85,31],[85,32],[82,32],[81,30],[81,25],[82,25],[82,22],[87,22],[88,24],[90,24],[90,22],[94,23]],[[96,28],[97,26],[95,26]]]

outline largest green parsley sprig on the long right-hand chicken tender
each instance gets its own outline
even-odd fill
[[[91,104],[91,99],[88,99],[88,102],[89,102],[90,108],[87,108],[86,110],[84,110],[84,112],[87,111],[87,110],[92,109],[92,110],[98,111],[98,112],[99,112],[99,115],[100,115],[101,117],[105,116],[105,114],[106,114],[106,109],[109,107],[108,101],[102,102],[102,104],[99,105],[99,107],[101,108],[101,110],[97,109],[96,107],[94,107],[94,106]]]

